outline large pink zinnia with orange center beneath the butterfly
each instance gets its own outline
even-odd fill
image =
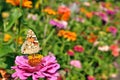
[[[15,66],[12,67],[15,73],[12,77],[15,79],[26,80],[32,76],[33,80],[47,78],[48,80],[57,80],[57,70],[60,65],[53,54],[43,57],[42,55],[33,54],[30,56],[17,56]]]

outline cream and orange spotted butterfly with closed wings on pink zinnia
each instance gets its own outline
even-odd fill
[[[38,53],[40,49],[35,33],[31,29],[28,30],[26,40],[21,47],[21,52],[23,54],[34,54]]]

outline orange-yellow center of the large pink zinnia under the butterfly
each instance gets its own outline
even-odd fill
[[[40,64],[43,56],[40,54],[30,54],[28,56],[28,64],[31,66],[37,66]]]

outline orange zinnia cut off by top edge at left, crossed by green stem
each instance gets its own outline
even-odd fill
[[[20,5],[20,0],[6,0],[7,3],[10,3],[14,6]],[[32,8],[32,1],[29,0],[22,0],[22,7]]]

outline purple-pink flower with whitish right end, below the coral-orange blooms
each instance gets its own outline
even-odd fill
[[[66,21],[58,21],[56,19],[50,20],[50,24],[59,29],[65,29],[67,27]]]

